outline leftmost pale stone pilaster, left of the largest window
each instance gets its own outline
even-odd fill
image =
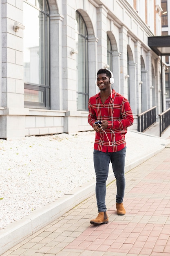
[[[2,101],[0,138],[22,139],[25,135],[23,30],[14,31],[14,22],[23,23],[23,0],[5,1],[2,6]],[[13,13],[13,20],[11,20]],[[8,25],[10,24],[10,26]]]

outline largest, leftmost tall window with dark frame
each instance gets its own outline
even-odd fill
[[[24,106],[50,108],[49,4],[24,0]]]

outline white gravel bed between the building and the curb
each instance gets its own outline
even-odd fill
[[[95,179],[94,138],[89,131],[0,139],[0,229]],[[167,143],[130,130],[126,141],[126,164]]]

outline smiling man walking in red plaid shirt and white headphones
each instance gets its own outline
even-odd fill
[[[113,74],[107,69],[97,72],[97,86],[100,90],[88,101],[88,123],[95,130],[94,167],[96,173],[97,218],[90,221],[93,225],[108,223],[106,180],[111,161],[116,178],[116,209],[118,215],[126,213],[123,205],[125,191],[125,156],[127,127],[133,124],[133,115],[128,100],[111,88]]]

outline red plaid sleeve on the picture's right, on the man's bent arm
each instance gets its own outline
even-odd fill
[[[130,104],[126,98],[123,99],[121,105],[121,119],[108,121],[108,128],[127,128],[133,124],[133,115],[132,110],[130,108]]]

